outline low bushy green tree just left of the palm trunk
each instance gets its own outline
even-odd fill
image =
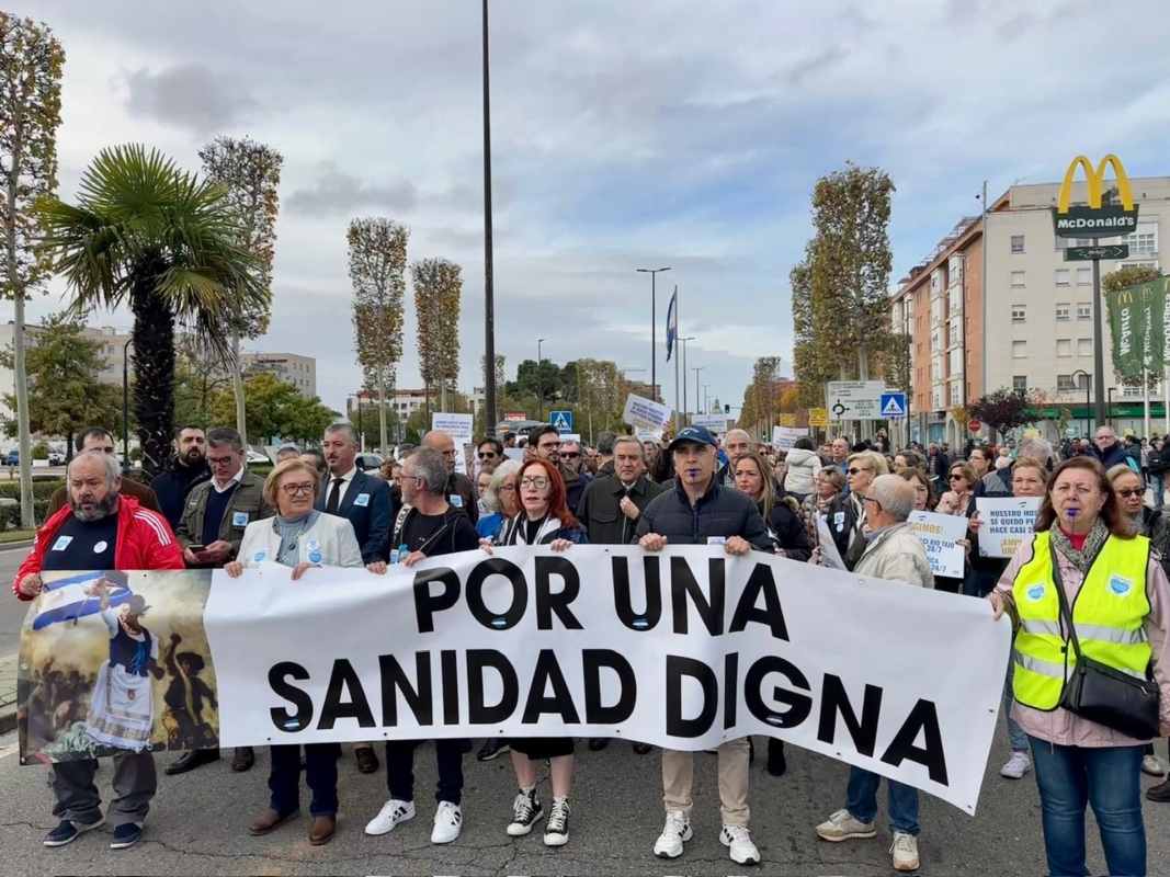
[[[102,345],[85,338],[84,329],[75,316],[51,315],[35,330],[36,343],[27,354],[29,427],[49,437],[63,437],[69,456],[74,436],[82,428],[122,422],[121,388],[98,381],[105,368]],[[4,360],[11,367],[12,353]],[[15,408],[15,395],[6,393],[5,402]],[[16,422],[6,422],[5,430],[15,435]]]

